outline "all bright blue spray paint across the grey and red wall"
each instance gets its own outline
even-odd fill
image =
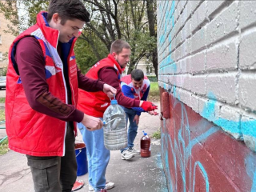
[[[166,11],[166,15],[165,15],[165,26],[164,26],[164,33],[160,34],[159,38],[158,38],[158,42],[159,45],[158,46],[162,46],[164,42],[166,42],[166,23],[169,23],[169,21],[171,20],[172,22],[172,30],[174,30],[174,9],[175,9],[175,3],[174,1],[172,2],[171,5],[171,9],[170,12],[168,13]],[[163,13],[163,11],[162,11]],[[168,21],[168,22],[167,22]],[[202,37],[204,36],[204,31],[202,31]],[[171,33],[169,33],[168,36],[168,43],[169,43],[169,50],[171,51]],[[161,47],[161,50],[163,49],[163,47]],[[169,51],[169,52],[170,52]],[[173,68],[172,63],[174,64]],[[174,63],[174,61],[171,58],[171,54],[168,55],[166,58],[164,58],[162,60],[162,62],[159,65],[159,74],[165,74],[165,70],[168,69],[167,74],[175,74],[175,72],[177,71],[177,66]],[[169,87],[170,85],[166,84],[165,82],[162,82],[162,85],[164,87],[164,89],[166,90],[167,87]],[[173,88],[173,95],[175,98],[178,98],[179,95],[176,92],[176,86],[172,85]],[[214,124],[216,124],[217,126],[221,126],[223,130],[225,130],[226,132],[233,134],[233,135],[238,135],[238,138],[242,139],[242,136],[248,136],[250,137],[250,139],[254,139],[254,143],[256,143],[256,121],[254,119],[248,120],[248,121],[230,121],[228,119],[225,118],[219,118],[216,115],[216,99],[214,97],[214,94],[210,93],[208,95],[208,98],[214,98],[214,99],[210,99],[208,102],[206,102],[206,105],[204,106],[202,112],[200,112],[200,114],[202,115],[203,118],[208,119],[211,122],[214,122]],[[174,106],[177,105],[177,102],[174,102]],[[198,166],[202,172],[202,175],[205,179],[206,182],[206,191],[209,191],[210,189],[210,183],[209,183],[209,178],[208,178],[208,174],[204,168],[204,166],[202,165],[202,162],[195,162],[194,165],[192,165],[191,163],[191,151],[193,149],[194,146],[197,146],[199,142],[203,142],[206,141],[207,138],[210,137],[210,135],[218,132],[218,127],[211,127],[209,130],[206,130],[205,132],[202,132],[201,135],[199,135],[197,138],[194,138],[193,140],[190,141],[190,125],[187,122],[184,122],[184,116],[185,118],[187,118],[187,113],[186,113],[186,109],[185,107],[183,107],[183,103],[181,103],[182,105],[182,122],[181,122],[181,127],[180,130],[178,130],[178,141],[176,141],[176,137],[174,136],[174,141],[171,141],[170,135],[168,134],[167,130],[166,130],[166,120],[164,120],[163,123],[163,127],[162,127],[162,159],[164,159],[164,166],[166,168],[166,176],[167,176],[167,181],[170,184],[170,190],[171,191],[177,191],[177,182],[175,182],[175,179],[177,178],[177,166],[181,166],[181,171],[182,171],[182,182],[183,182],[183,191],[186,191],[186,165],[189,164],[189,169],[190,169],[190,175],[189,175],[189,190],[188,191],[194,191],[194,182],[195,182],[195,168]],[[184,115],[184,116],[183,116]],[[202,122],[201,122],[202,123]],[[176,123],[174,122],[174,126],[176,125]],[[199,123],[199,125],[203,125]],[[198,126],[200,127],[200,126]],[[172,129],[176,129],[176,127],[172,128]],[[245,137],[244,137],[245,138]],[[174,146],[173,144],[174,143]],[[252,142],[253,143],[253,142]],[[166,149],[164,148],[166,146]],[[169,150],[169,146],[170,149]],[[253,148],[256,151],[256,145],[255,146],[251,146],[250,148]],[[170,170],[169,167],[169,152],[172,154],[172,157],[174,157],[174,159],[171,159],[171,161],[174,161],[174,170]],[[176,156],[176,154],[179,154],[178,156]],[[249,162],[249,160],[245,159],[245,161]],[[178,163],[177,163],[178,162]],[[252,162],[249,162],[250,164]],[[192,175],[192,169],[191,167],[194,167],[194,174]],[[247,167],[246,167],[247,169]],[[248,167],[248,169],[250,169],[250,167]],[[168,171],[170,170],[170,172],[174,171],[175,174],[175,178],[171,178],[170,176],[170,172]],[[247,171],[247,174],[249,174],[249,171]],[[251,187],[251,192],[252,191],[256,191],[256,171],[255,168],[252,169],[250,171],[250,178],[253,181],[252,187]],[[193,183],[192,183],[193,182]]]

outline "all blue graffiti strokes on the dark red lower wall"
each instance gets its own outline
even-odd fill
[[[178,166],[179,166],[182,174],[183,191],[186,191],[186,185],[189,186],[188,191],[194,191],[194,182],[196,177],[195,169],[198,166],[206,182],[206,191],[209,191],[210,183],[209,183],[208,174],[204,166],[202,165],[202,162],[197,161],[197,162],[194,162],[194,164],[192,164],[191,151],[194,146],[200,144],[201,142],[206,141],[206,139],[209,138],[210,135],[216,133],[217,131],[220,131],[221,129],[217,126],[213,126],[209,130],[206,130],[206,127],[203,126],[203,122],[199,121],[198,126],[196,125],[196,127],[197,129],[201,129],[201,130],[198,130],[198,132],[202,132],[202,134],[200,134],[198,137],[191,140],[190,128],[192,129],[194,128],[190,127],[189,125],[186,108],[182,102],[175,101],[174,108],[176,105],[181,105],[181,108],[182,108],[181,127],[176,127],[175,122],[174,122],[174,127],[172,127],[172,129],[174,130],[179,129],[178,140],[176,138],[176,135],[174,135],[174,141],[171,140],[170,134],[168,134],[166,130],[166,120],[163,120],[163,127],[162,127],[162,162],[167,172],[166,178],[167,178],[167,183],[169,184],[169,189],[170,191],[178,191],[176,179],[178,176]],[[173,143],[174,143],[174,146],[173,146]],[[167,149],[164,149],[165,146],[167,147]],[[169,147],[170,149],[168,149]],[[173,159],[169,159],[170,156],[172,156]],[[174,170],[170,170],[169,162],[174,162]],[[250,191],[255,192],[256,191],[256,168],[255,168],[256,162],[255,162],[254,154],[248,154],[248,156],[245,159],[245,165],[246,165],[246,173],[248,174],[248,176],[252,181],[252,186]],[[186,168],[188,168],[189,171],[186,172]],[[175,175],[174,178],[171,178],[171,175],[168,172],[169,170],[174,173]],[[189,174],[189,181],[188,181],[189,183],[186,183],[187,182],[186,174]]]

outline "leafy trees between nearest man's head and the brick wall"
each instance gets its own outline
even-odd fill
[[[156,34],[151,35],[149,30],[149,23],[155,24],[156,15],[150,14],[148,17],[146,10],[147,7],[154,7],[155,1],[84,0],[84,2],[90,9],[91,18],[94,21],[86,25],[85,30],[94,32],[108,50],[111,42],[118,38],[130,43],[132,55],[128,74],[136,68],[142,58],[156,50]],[[153,19],[153,22],[149,22],[149,18]],[[157,69],[156,65],[155,71]]]

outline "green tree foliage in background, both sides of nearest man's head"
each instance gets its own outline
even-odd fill
[[[158,66],[156,54],[156,15],[155,0],[83,0],[90,11],[91,21],[82,30],[82,36],[75,46],[78,65],[82,71],[110,52],[111,43],[116,39],[124,39],[130,43],[132,55],[128,68],[136,68],[142,58],[152,58],[154,70],[157,74]],[[48,0],[6,0],[0,1],[0,11],[10,20],[15,30],[9,26],[9,32],[17,35],[35,23],[36,14],[46,10]],[[22,14],[18,17],[18,9]],[[20,13],[20,12],[19,12]]]

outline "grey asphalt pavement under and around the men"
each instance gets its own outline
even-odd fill
[[[157,103],[159,106],[159,103]],[[159,107],[160,108],[160,107]],[[138,135],[135,139],[135,148],[140,148],[142,130],[153,134],[160,127],[158,116],[142,113]],[[78,133],[76,142],[82,142]],[[119,150],[112,150],[110,163],[106,170],[106,182],[114,182],[115,187],[110,192],[167,192],[166,178],[162,169],[160,139],[151,138],[151,157],[142,158],[136,155],[130,160],[122,160]],[[26,165],[26,156],[9,151],[0,156],[0,191],[1,192],[34,192],[32,176],[29,166]],[[79,176],[85,186],[78,192],[87,192],[88,173]]]

